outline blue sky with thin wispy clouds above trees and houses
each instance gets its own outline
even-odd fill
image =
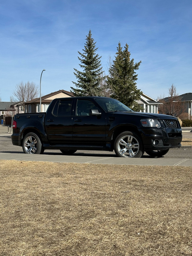
[[[9,0],[0,3],[0,97],[9,101],[16,84],[40,84],[43,95],[70,91],[80,69],[86,35],[107,70],[120,41],[127,43],[137,88],[157,99],[192,92],[191,0]]]

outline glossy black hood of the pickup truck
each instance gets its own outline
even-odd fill
[[[164,114],[155,114],[155,113],[143,113],[143,112],[125,112],[125,111],[118,111],[118,112],[114,112],[115,114],[118,115],[136,115],[136,116],[140,116],[141,118],[153,118],[153,119],[177,119],[174,116],[169,116],[169,115],[164,115]]]

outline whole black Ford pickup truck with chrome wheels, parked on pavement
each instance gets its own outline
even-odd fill
[[[16,114],[11,139],[27,154],[115,150],[119,157],[160,157],[181,147],[182,129],[176,117],[134,112],[112,98],[71,97],[54,99],[46,113]]]

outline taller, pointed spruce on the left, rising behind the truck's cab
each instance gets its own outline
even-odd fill
[[[101,56],[96,54],[98,48],[95,48],[96,42],[91,35],[89,30],[86,36],[85,48],[83,53],[79,53],[78,56],[81,64],[79,66],[82,71],[78,71],[74,68],[74,75],[76,76],[77,82],[73,82],[76,88],[71,87],[71,92],[75,96],[99,96],[101,94],[100,81],[103,73],[101,67]]]

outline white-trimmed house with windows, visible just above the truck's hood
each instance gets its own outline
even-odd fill
[[[146,113],[158,113],[158,105],[161,104],[144,93],[141,94],[140,100],[136,102],[142,107],[141,112]]]

